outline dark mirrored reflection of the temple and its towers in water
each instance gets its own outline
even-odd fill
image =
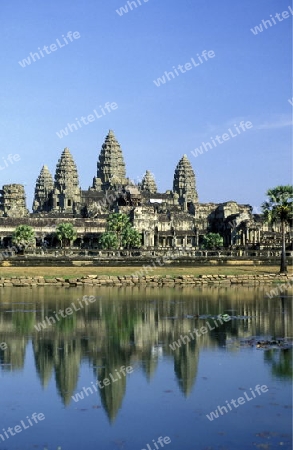
[[[121,366],[141,370],[152,382],[160,358],[173,360],[174,374],[182,394],[188,397],[196,381],[200,353],[223,347],[223,351],[240,351],[241,338],[251,336],[292,337],[292,303],[290,292],[268,299],[264,287],[204,287],[183,289],[101,288],[96,302],[76,314],[61,319],[42,331],[34,327],[54,311],[65,309],[85,294],[78,290],[5,289],[0,307],[0,367],[21,371],[30,342],[35,369],[44,389],[55,377],[56,389],[65,406],[79,392],[80,368],[92,368],[92,381],[102,381]],[[17,294],[17,295],[16,295]],[[17,300],[16,300],[17,298]],[[170,344],[180,335],[205,325],[198,315],[229,312],[246,316],[223,323],[213,331],[181,344],[173,351]],[[260,350],[263,351],[263,350]],[[290,351],[266,350],[264,358],[272,373],[290,374]],[[280,375],[280,376],[281,376]],[[99,396],[110,422],[122,405],[127,377],[121,377],[103,389]]]

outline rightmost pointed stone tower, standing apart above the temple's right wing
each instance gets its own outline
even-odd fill
[[[195,175],[186,155],[180,159],[176,166],[173,192],[178,195],[179,204],[184,210],[187,210],[190,204],[198,203]]]

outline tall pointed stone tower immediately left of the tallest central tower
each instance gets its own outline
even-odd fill
[[[81,191],[76,164],[68,148],[65,148],[58,160],[53,190],[53,211],[78,213]]]

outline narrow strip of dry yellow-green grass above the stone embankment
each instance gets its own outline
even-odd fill
[[[1,277],[80,278],[86,275],[131,275],[142,267],[1,267]],[[292,269],[291,275],[292,275]],[[279,266],[203,266],[203,267],[154,267],[145,273],[150,276],[178,275],[261,275],[278,273]],[[288,272],[289,273],[289,272]]]

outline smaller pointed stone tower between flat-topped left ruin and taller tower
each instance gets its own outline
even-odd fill
[[[52,193],[54,182],[47,166],[43,166],[37,178],[33,212],[48,212],[52,209]]]

